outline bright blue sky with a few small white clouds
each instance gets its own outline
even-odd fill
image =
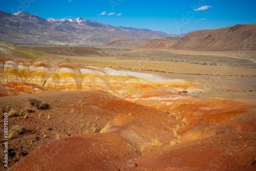
[[[2,1],[0,9],[9,13],[22,10],[46,19],[83,17],[169,34],[256,24],[256,1],[11,0]]]

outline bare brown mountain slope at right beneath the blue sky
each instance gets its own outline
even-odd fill
[[[152,39],[137,48],[202,51],[256,50],[256,24],[190,32],[174,42]]]

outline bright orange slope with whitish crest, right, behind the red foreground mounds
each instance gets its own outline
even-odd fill
[[[227,132],[256,131],[256,105],[237,100],[200,101],[172,92],[134,94],[123,99],[153,106],[181,121],[176,131],[182,141]]]

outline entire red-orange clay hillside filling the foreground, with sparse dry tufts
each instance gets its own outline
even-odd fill
[[[124,99],[103,91],[2,97],[2,112],[15,111],[10,127],[23,127],[13,129],[10,170],[255,169],[255,105],[158,91]]]

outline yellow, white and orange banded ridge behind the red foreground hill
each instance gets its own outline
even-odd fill
[[[171,92],[202,90],[182,79],[163,79],[148,73],[84,67],[52,56],[29,60],[1,54],[0,64],[2,83],[22,81],[36,84],[41,89],[38,92],[103,90],[115,96],[125,96],[156,90]],[[11,83],[7,84],[11,86]],[[18,86],[16,88],[24,90]]]

